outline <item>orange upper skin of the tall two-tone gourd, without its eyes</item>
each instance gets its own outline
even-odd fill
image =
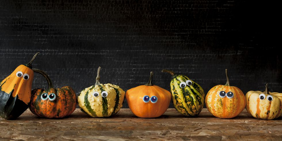
[[[17,77],[16,73],[21,71],[24,75],[29,75],[28,80],[24,80],[22,77]],[[25,65],[18,66],[7,78],[5,78],[1,84],[1,90],[5,93],[10,93],[13,89],[13,97],[18,95],[18,98],[28,105],[31,99],[31,85],[33,81],[33,70]]]

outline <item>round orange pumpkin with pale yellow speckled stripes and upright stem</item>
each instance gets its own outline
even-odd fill
[[[246,105],[243,92],[229,85],[227,69],[225,85],[216,85],[209,90],[206,96],[206,107],[212,115],[219,118],[233,118],[239,115]]]

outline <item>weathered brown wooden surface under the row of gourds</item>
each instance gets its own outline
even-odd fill
[[[68,118],[39,118],[29,110],[17,120],[0,120],[0,140],[282,140],[281,117],[258,120],[244,110],[233,119],[185,117],[168,109],[143,119],[121,109],[110,118],[93,118],[76,109]]]

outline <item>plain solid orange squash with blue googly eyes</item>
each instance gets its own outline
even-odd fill
[[[145,85],[126,91],[125,98],[134,115],[142,118],[159,117],[167,110],[171,93],[157,85],[153,85],[153,72]]]

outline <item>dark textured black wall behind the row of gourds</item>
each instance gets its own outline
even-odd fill
[[[225,84],[228,68],[230,84],[244,93],[266,82],[282,92],[278,13],[275,3],[248,1],[0,0],[0,78],[40,51],[33,68],[77,94],[94,85],[98,66],[101,83],[125,91],[150,71],[169,90],[167,68],[207,93]],[[47,82],[36,74],[38,87]]]

